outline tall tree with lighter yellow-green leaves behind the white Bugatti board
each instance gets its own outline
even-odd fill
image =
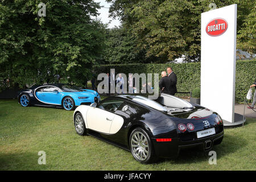
[[[156,56],[163,63],[181,55],[200,60],[201,13],[238,4],[238,48],[255,53],[254,0],[107,0],[110,14],[126,22],[137,39],[137,48],[146,49],[146,57]],[[247,34],[249,32],[249,36]]]

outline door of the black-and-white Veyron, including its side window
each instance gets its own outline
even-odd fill
[[[86,114],[88,128],[105,134],[117,133],[123,124],[123,118],[114,114],[114,111],[122,103],[121,100],[107,100],[98,107],[90,107]]]

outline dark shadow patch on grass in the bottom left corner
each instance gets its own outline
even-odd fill
[[[49,164],[38,164],[40,156],[31,153],[0,154],[0,170],[46,170]]]

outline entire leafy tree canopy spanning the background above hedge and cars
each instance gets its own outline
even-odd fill
[[[106,0],[121,27],[106,28],[93,0],[2,0],[0,81],[52,82],[55,75],[84,85],[93,65],[200,61],[201,13],[237,3],[237,48],[255,53],[254,0]],[[46,5],[46,16],[38,12]],[[1,84],[0,84],[1,86]]]

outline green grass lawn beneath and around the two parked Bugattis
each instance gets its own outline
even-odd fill
[[[217,165],[203,151],[182,151],[177,159],[138,163],[130,152],[93,137],[76,134],[73,111],[22,107],[16,100],[0,100],[0,170],[255,170],[256,119],[243,127],[225,129],[214,146]],[[38,152],[46,152],[46,165]]]

